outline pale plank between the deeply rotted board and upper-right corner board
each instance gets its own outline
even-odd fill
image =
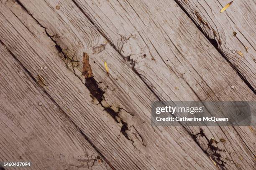
[[[174,1],[74,2],[161,100],[256,100]],[[188,130],[192,135],[199,134],[197,142],[220,168],[252,169],[255,135],[249,127]],[[217,144],[218,156],[210,149],[210,139],[228,141]]]

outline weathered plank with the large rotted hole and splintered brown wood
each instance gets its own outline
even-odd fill
[[[16,2],[1,3],[0,38],[115,169],[216,169],[184,128],[151,125],[156,96],[73,3],[46,2],[22,1],[40,25]],[[84,52],[100,103],[83,84]]]

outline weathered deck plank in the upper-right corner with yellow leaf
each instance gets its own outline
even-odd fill
[[[256,91],[256,3],[238,0],[176,0]]]

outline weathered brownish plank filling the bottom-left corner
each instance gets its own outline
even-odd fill
[[[111,169],[2,44],[0,87],[0,162],[30,162],[26,170]]]

